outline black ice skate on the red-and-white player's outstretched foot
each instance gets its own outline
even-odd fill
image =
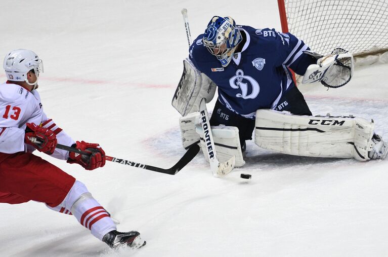
[[[141,239],[140,233],[137,231],[118,232],[113,230],[108,232],[102,238],[102,241],[107,243],[111,248],[127,246],[133,249],[137,249],[146,244],[146,241]]]

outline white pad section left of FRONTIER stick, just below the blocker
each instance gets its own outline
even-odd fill
[[[182,145],[186,150],[189,149],[190,145],[199,143],[199,134],[195,131],[196,124],[199,124],[199,112],[191,113],[179,119]]]

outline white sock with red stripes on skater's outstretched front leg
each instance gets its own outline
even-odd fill
[[[71,210],[77,221],[85,228],[90,229],[92,235],[100,240],[106,233],[116,230],[116,225],[109,213],[79,181],[74,182],[73,187],[59,206]]]

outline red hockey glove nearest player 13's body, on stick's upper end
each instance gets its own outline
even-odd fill
[[[44,152],[48,155],[53,154],[57,146],[57,137],[54,132],[34,123],[27,123],[26,125],[24,142],[34,146],[39,152]]]

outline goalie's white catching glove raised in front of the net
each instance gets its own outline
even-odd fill
[[[323,56],[312,51],[304,51],[318,59],[311,64],[303,76],[303,84],[321,82],[325,87],[338,88],[346,85],[353,76],[353,55],[342,48],[334,49]]]

